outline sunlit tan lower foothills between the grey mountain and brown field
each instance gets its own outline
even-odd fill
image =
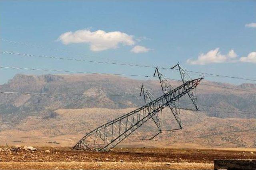
[[[29,116],[17,124],[2,124],[0,145],[73,146],[94,128],[135,108],[58,109],[54,117]],[[102,119],[104,117],[104,119]],[[256,119],[216,118],[182,111],[184,129],[163,132],[154,140],[157,127],[150,119],[119,146],[151,147],[256,147]],[[163,129],[175,129],[170,110],[162,112]],[[4,126],[4,127],[3,127]],[[20,138],[22,137],[22,138]],[[24,138],[25,137],[25,138]]]

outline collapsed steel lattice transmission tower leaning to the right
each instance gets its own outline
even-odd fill
[[[160,80],[162,90],[164,95],[159,98],[154,98],[147,90],[142,86],[141,96],[143,95],[146,102],[145,106],[142,106],[130,113],[127,113],[117,119],[114,119],[96,129],[87,133],[78,143],[73,147],[73,149],[85,149],[92,151],[104,151],[114,148],[118,143],[126,139],[131,133],[136,131],[141,125],[143,125],[149,119],[153,119],[156,123],[159,131],[161,132],[161,121],[158,116],[158,112],[162,111],[164,107],[170,107],[175,119],[181,126],[180,121],[180,112],[177,111],[176,102],[188,94],[196,109],[196,94],[194,91],[196,86],[203,79],[191,79],[188,74],[180,67],[180,64],[177,64],[180,74],[182,77],[183,84],[177,88],[173,88],[170,83],[164,78],[164,76],[156,69],[154,76],[157,74]],[[174,67],[176,67],[174,66]],[[174,68],[172,67],[172,68]],[[186,79],[189,77],[190,79]]]

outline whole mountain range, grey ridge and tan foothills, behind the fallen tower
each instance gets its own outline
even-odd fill
[[[177,81],[170,83],[180,85]],[[156,97],[162,95],[158,80],[100,74],[16,74],[0,85],[0,136],[11,138],[2,140],[2,144],[53,142],[47,138],[19,140],[23,135],[62,137],[66,140],[57,138],[54,142],[73,145],[93,128],[143,106],[139,96],[142,84]],[[256,84],[204,80],[197,88],[200,110],[181,109],[184,129],[163,133],[153,141],[143,140],[156,132],[149,121],[121,145],[256,147],[255,92]],[[194,109],[188,97],[180,100],[180,107]],[[167,108],[162,111],[162,124],[166,129],[177,127]]]

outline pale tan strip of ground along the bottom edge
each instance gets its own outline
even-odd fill
[[[77,169],[77,170],[212,170],[213,164],[205,163],[168,163],[168,162],[0,162],[0,167],[6,170],[34,169]]]

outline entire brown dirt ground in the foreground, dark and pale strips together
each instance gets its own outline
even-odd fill
[[[39,147],[35,151],[0,148],[0,169],[213,169],[216,158],[256,159],[250,151],[220,149],[117,148],[89,152],[68,147]]]

